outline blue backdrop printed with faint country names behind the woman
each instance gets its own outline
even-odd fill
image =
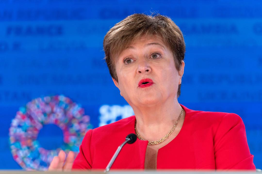
[[[170,16],[184,34],[179,103],[241,116],[262,168],[262,1],[2,0],[0,7],[0,169],[21,169],[9,128],[35,98],[63,94],[93,128],[132,115],[103,61],[102,42],[126,16],[150,12]],[[63,133],[46,125],[37,140],[59,148]]]

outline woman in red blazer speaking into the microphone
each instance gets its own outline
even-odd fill
[[[162,15],[134,14],[104,38],[105,60],[135,116],[89,130],[73,162],[60,152],[50,170],[105,169],[124,138],[111,169],[252,169],[242,119],[233,113],[193,111],[180,105],[185,43]]]

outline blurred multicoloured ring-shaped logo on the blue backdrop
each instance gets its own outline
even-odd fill
[[[56,149],[45,149],[37,137],[44,125],[57,125],[63,132],[63,143]],[[36,98],[21,107],[9,128],[13,158],[24,169],[46,170],[62,149],[78,153],[85,133],[91,129],[84,109],[63,95]],[[50,135],[52,136],[52,135]]]

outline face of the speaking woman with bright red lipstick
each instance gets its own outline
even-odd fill
[[[113,81],[132,107],[177,100],[184,62],[178,71],[170,48],[160,37],[135,40],[119,55],[115,67],[118,82]]]

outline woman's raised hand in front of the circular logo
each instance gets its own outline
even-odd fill
[[[66,159],[65,156],[65,152],[60,151],[51,161],[48,171],[71,171],[75,159],[74,152],[70,151]]]

